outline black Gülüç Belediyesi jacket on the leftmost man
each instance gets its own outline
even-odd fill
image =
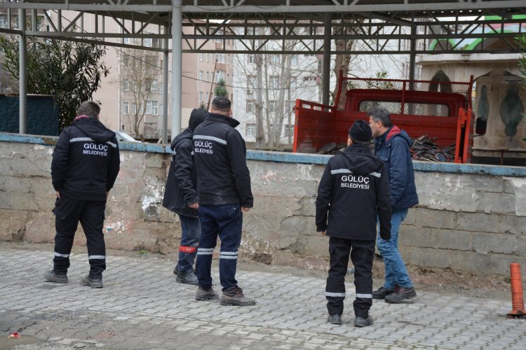
[[[53,188],[76,200],[106,200],[119,167],[115,133],[99,120],[82,118],[58,138],[51,161]]]

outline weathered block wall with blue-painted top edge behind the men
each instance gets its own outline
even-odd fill
[[[56,138],[0,134],[0,240],[52,242]],[[121,172],[107,205],[109,248],[174,255],[180,223],[161,206],[170,151],[121,144]],[[325,269],[328,239],[314,201],[325,155],[248,151],[255,207],[244,214],[242,259]],[[414,162],[420,204],[401,228],[405,261],[422,267],[508,274],[526,264],[526,169]],[[75,244],[85,244],[79,228]]]

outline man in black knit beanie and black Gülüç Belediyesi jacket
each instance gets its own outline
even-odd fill
[[[318,187],[316,230],[329,239],[330,269],[325,287],[328,321],[342,324],[345,275],[349,253],[354,265],[354,325],[372,325],[372,260],[375,255],[377,217],[380,235],[391,235],[389,174],[372,155],[372,132],[365,120],[349,129],[348,147],[330,158]]]

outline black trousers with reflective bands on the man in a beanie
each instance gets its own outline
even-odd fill
[[[341,315],[344,312],[344,282],[350,253],[356,287],[354,314],[356,317],[367,318],[372,305],[372,260],[375,256],[375,241],[330,237],[329,253],[330,269],[325,287],[329,314]]]

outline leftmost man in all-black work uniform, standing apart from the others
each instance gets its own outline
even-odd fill
[[[53,269],[44,274],[47,281],[67,283],[69,253],[79,221],[86,235],[90,273],[83,286],[102,288],[106,269],[106,248],[102,225],[106,198],[119,174],[119,144],[115,133],[98,120],[100,106],[86,101],[76,111],[71,127],[58,138],[51,178],[55,201],[55,258]]]

